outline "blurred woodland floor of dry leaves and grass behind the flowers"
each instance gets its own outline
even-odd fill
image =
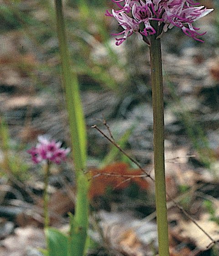
[[[177,28],[162,36],[167,190],[219,240],[219,3],[200,2],[214,8],[196,22],[201,32],[207,31],[202,37],[205,43]],[[135,168],[91,128],[97,124],[107,133],[104,120],[125,151],[151,170],[153,116],[146,43],[134,34],[115,45],[110,33],[120,28],[115,19],[104,15],[115,8],[110,0],[63,3],[72,68],[78,75],[86,117],[89,170],[124,174],[127,166]],[[26,150],[40,134],[70,145],[60,74],[54,2],[0,0],[0,255],[38,255],[33,248],[44,246],[43,175]],[[116,189],[106,177],[101,182],[105,192],[91,192],[90,255],[156,255],[153,185],[126,182]],[[69,198],[73,191],[71,160],[53,166],[53,226],[67,223],[67,213],[74,208]],[[142,218],[148,218],[147,224],[142,224]],[[171,205],[169,220],[172,256],[219,255],[217,245],[204,251],[209,238],[191,228],[193,223]],[[111,235],[106,232],[109,223]],[[21,246],[13,247],[18,239]]]

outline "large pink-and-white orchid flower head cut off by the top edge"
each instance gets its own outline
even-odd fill
[[[160,27],[159,33],[167,32],[167,29],[179,27],[182,31],[193,39],[203,42],[198,36],[199,28],[193,26],[193,22],[206,16],[214,9],[207,9],[205,6],[196,6],[193,0],[112,0],[118,5],[120,10],[112,10],[112,13],[106,11],[106,16],[114,16],[119,25],[124,30],[115,36],[116,45],[120,45],[133,32],[145,36],[156,34],[156,30],[151,26],[151,21],[158,21]],[[142,25],[141,25],[142,24]],[[159,34],[158,34],[159,36]],[[145,40],[148,41],[147,39]]]

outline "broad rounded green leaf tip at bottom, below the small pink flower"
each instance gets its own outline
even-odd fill
[[[46,256],[68,256],[67,236],[54,228],[45,229],[45,234],[48,246],[48,253]]]

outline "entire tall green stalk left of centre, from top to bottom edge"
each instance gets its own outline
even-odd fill
[[[88,229],[89,182],[83,174],[86,168],[87,139],[85,120],[80,100],[77,75],[71,70],[66,32],[63,19],[62,0],[55,0],[57,17],[57,34],[61,66],[63,73],[63,87],[68,111],[70,134],[72,139],[72,153],[77,179],[77,200],[75,214],[71,221],[71,256],[83,256]]]

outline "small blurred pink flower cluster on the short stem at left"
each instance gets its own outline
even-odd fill
[[[32,147],[27,150],[31,154],[32,161],[36,164],[43,160],[51,161],[56,164],[60,164],[66,160],[66,156],[70,152],[70,149],[64,149],[61,147],[61,142],[55,142],[55,140],[49,140],[46,136],[38,136],[39,143],[36,147]]]

